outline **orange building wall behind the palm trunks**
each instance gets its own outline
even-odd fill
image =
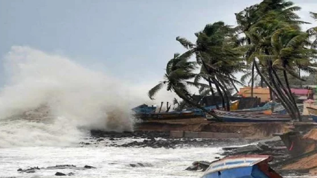
[[[240,88],[239,94],[243,97],[251,97],[251,87]],[[270,90],[268,88],[254,87],[253,97],[261,98],[261,102],[270,101]]]

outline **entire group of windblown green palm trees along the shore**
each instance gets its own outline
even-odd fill
[[[293,110],[297,107],[289,84],[313,84],[312,76],[317,73],[317,27],[301,31],[300,25],[308,22],[297,15],[300,9],[287,0],[263,0],[235,13],[236,27],[219,21],[195,33],[195,42],[178,36],[176,40],[187,51],[174,54],[168,61],[165,80],[149,91],[149,97],[153,99],[166,86],[168,91],[193,104],[187,88],[195,86],[201,95],[222,96],[224,103],[235,84],[249,85],[255,81],[259,85],[264,81],[296,118],[297,111]],[[317,20],[317,13],[310,15]],[[193,56],[195,62],[190,60]],[[195,73],[197,67],[199,73]],[[299,71],[310,75],[301,77]],[[244,73],[241,81],[234,77],[238,72]]]

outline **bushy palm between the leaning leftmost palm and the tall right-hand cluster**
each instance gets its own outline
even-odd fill
[[[229,94],[223,82],[238,82],[233,73],[241,70],[239,66],[241,54],[234,50],[232,39],[235,38],[236,29],[225,25],[224,22],[215,22],[207,24],[205,28],[195,33],[196,43],[191,43],[182,37],[177,37],[185,48],[196,54],[197,63],[201,65],[205,77],[210,84],[214,84],[217,92],[226,101],[226,110],[230,110]],[[202,74],[202,73],[201,73]],[[228,79],[228,80],[223,80]]]

